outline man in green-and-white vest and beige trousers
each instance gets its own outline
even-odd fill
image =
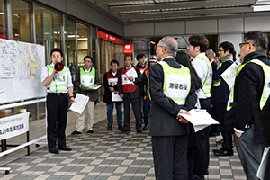
[[[93,67],[93,58],[85,56],[84,67],[80,67],[76,71],[76,88],[79,94],[84,94],[89,97],[89,101],[85,106],[85,110],[82,114],[77,113],[76,130],[72,132],[72,135],[81,134],[85,125],[85,113],[87,121],[86,133],[94,133],[94,103],[98,100],[98,90],[88,88],[87,85],[99,85],[98,71]]]

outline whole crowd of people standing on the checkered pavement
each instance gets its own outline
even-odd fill
[[[232,156],[232,137],[247,180],[257,179],[257,169],[265,146],[269,127],[259,118],[270,94],[270,64],[267,62],[267,37],[260,31],[250,31],[240,43],[240,61],[235,83],[230,87],[221,74],[236,60],[234,45],[222,42],[218,58],[208,49],[204,36],[193,35],[188,40],[187,53],[178,52],[177,41],[165,37],[157,44],[157,59],[151,58],[145,67],[145,56],[139,54],[137,66],[130,55],[124,67],[112,60],[110,70],[103,76],[104,99],[107,105],[107,130],[112,130],[113,106],[117,110],[118,129],[130,131],[130,103],[135,115],[136,130],[148,130],[152,139],[155,174],[157,180],[204,179],[209,166],[209,128],[194,132],[193,125],[182,114],[204,109],[220,122],[222,147],[214,149],[215,156]],[[48,147],[50,153],[71,150],[66,146],[67,103],[75,102],[73,85],[67,67],[54,69],[63,60],[60,49],[51,51],[52,63],[42,70],[41,82],[47,87]],[[93,58],[84,58],[85,66],[76,73],[76,87],[90,97],[86,106],[87,133],[94,133],[94,102],[97,90],[85,88],[85,82],[99,85]],[[132,69],[137,76],[127,76]],[[112,95],[122,102],[113,102]],[[124,107],[122,126],[121,104]],[[78,115],[76,130],[81,134],[85,112]],[[144,128],[142,129],[142,119]],[[150,126],[149,120],[151,121]],[[262,123],[263,121],[263,123]],[[269,123],[268,123],[269,124]],[[263,131],[262,131],[263,130]],[[233,135],[233,136],[232,136]],[[57,142],[58,141],[58,142]],[[58,147],[58,148],[57,148]],[[266,178],[267,179],[267,178]]]

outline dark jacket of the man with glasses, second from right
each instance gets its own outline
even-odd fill
[[[221,67],[213,72],[212,80],[221,80],[219,86],[211,86],[211,103],[227,103],[229,99],[229,85],[221,74],[232,64],[232,61],[223,62]]]

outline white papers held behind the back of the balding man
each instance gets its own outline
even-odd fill
[[[190,113],[191,115],[182,113],[180,113],[180,115],[193,124],[195,132],[204,129],[211,124],[219,124],[218,121],[212,119],[211,115],[206,112],[206,110],[193,109]]]

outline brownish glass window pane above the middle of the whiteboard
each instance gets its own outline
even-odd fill
[[[13,39],[31,42],[30,4],[21,0],[12,0]]]

